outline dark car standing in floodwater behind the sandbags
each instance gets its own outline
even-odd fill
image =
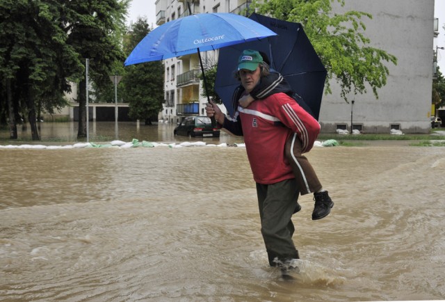
[[[188,116],[173,131],[175,135],[191,137],[219,137],[220,129],[211,125],[207,116]]]

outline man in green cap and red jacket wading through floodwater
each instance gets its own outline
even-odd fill
[[[257,86],[264,87],[260,83],[262,79],[267,82],[270,77],[269,67],[258,51],[248,49],[238,58],[236,77],[241,80],[244,90],[239,95],[244,97]],[[295,150],[290,149],[288,141],[298,141],[300,152],[308,152],[320,132],[320,125],[285,92],[275,88],[273,93],[265,93],[263,100],[250,104],[241,102],[248,108],[238,106],[233,118],[226,117],[213,102],[207,104],[206,111],[207,116],[214,116],[227,131],[244,136],[250,167],[257,183],[261,235],[268,261],[270,266],[281,267],[283,273],[288,273],[289,269],[296,267],[294,260],[299,259],[292,241],[295,228],[291,216],[301,209],[298,205],[301,185],[296,180],[290,160],[286,158],[286,153],[291,157]],[[237,95],[236,91],[234,95]],[[240,101],[245,100],[243,97]],[[286,143],[289,152],[284,152]],[[301,160],[307,161],[305,157],[300,158],[299,162]],[[310,166],[308,161],[307,165]],[[302,189],[308,193],[305,188]],[[321,190],[321,184],[315,189]],[[327,191],[323,192],[321,198],[317,199],[315,195],[313,219],[327,216],[334,205]]]

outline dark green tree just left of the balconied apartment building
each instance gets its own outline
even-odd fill
[[[124,41],[127,55],[149,33],[147,18],[139,17],[131,24],[131,30]],[[129,102],[129,116],[144,120],[145,125],[152,125],[159,111],[162,110],[164,100],[163,79],[164,68],[161,61],[140,63],[125,67],[122,79],[124,99]]]

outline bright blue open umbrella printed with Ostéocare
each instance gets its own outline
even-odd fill
[[[276,35],[276,33],[241,15],[232,13],[189,15],[162,24],[150,31],[131,51],[124,65],[160,61],[197,53],[200,58],[204,88],[207,91],[200,51],[259,40],[270,35]]]

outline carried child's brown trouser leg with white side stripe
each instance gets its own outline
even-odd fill
[[[312,165],[301,154],[301,141],[296,133],[286,141],[284,151],[291,164],[301,195],[320,191],[323,186],[321,186]]]

